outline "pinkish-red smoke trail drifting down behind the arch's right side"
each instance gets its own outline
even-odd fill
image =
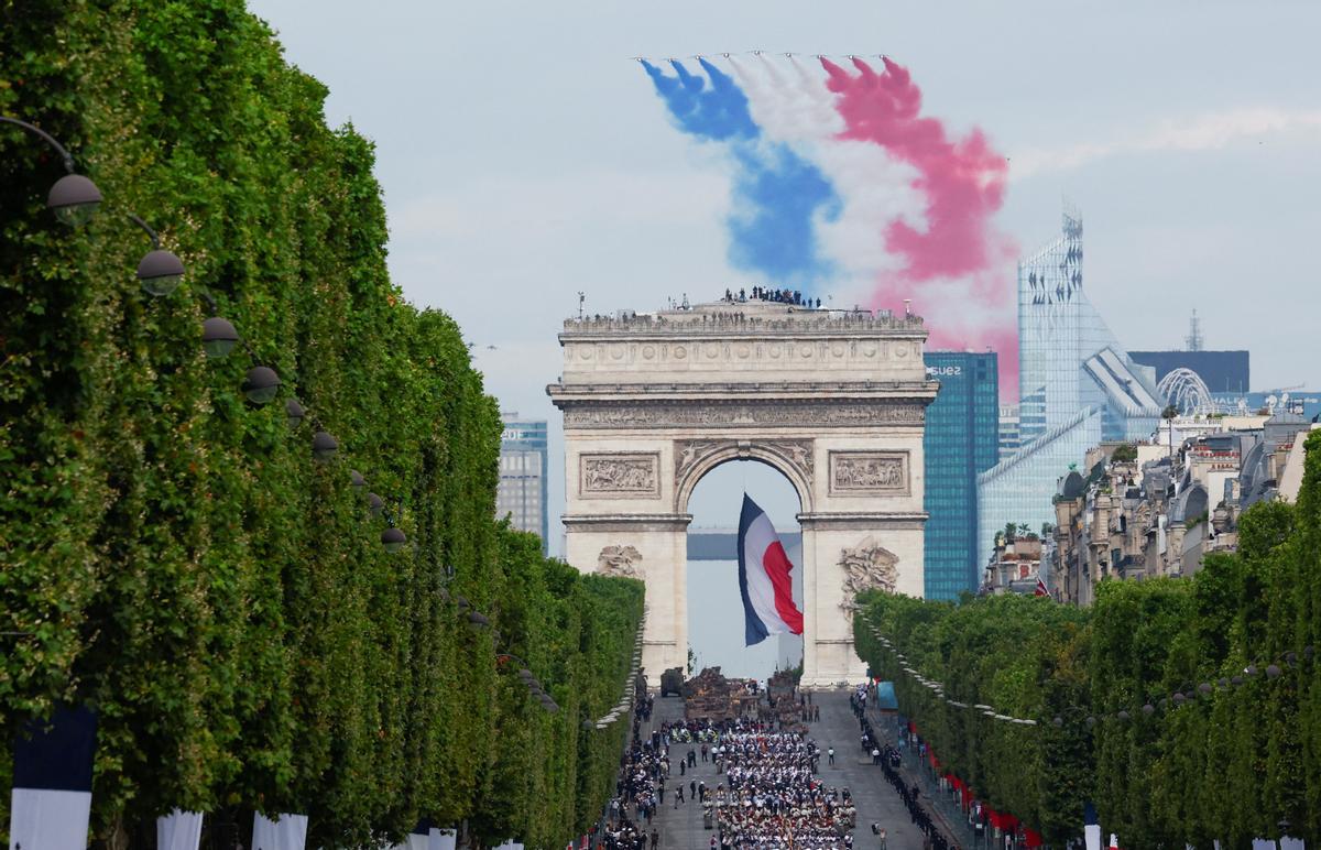
[[[855,77],[822,59],[826,86],[839,95],[840,137],[878,144],[911,165],[918,174],[913,186],[926,197],[925,229],[902,219],[885,225],[886,250],[904,264],[877,282],[873,305],[896,308],[911,299],[930,325],[930,348],[992,348],[1000,354],[1001,397],[1017,399],[1016,250],[991,223],[1004,202],[1008,163],[980,130],[951,139],[939,119],[921,116],[921,89],[906,69],[882,61],[885,71],[877,74],[853,59]],[[955,288],[941,286],[941,297],[923,299],[922,284],[937,282]]]

